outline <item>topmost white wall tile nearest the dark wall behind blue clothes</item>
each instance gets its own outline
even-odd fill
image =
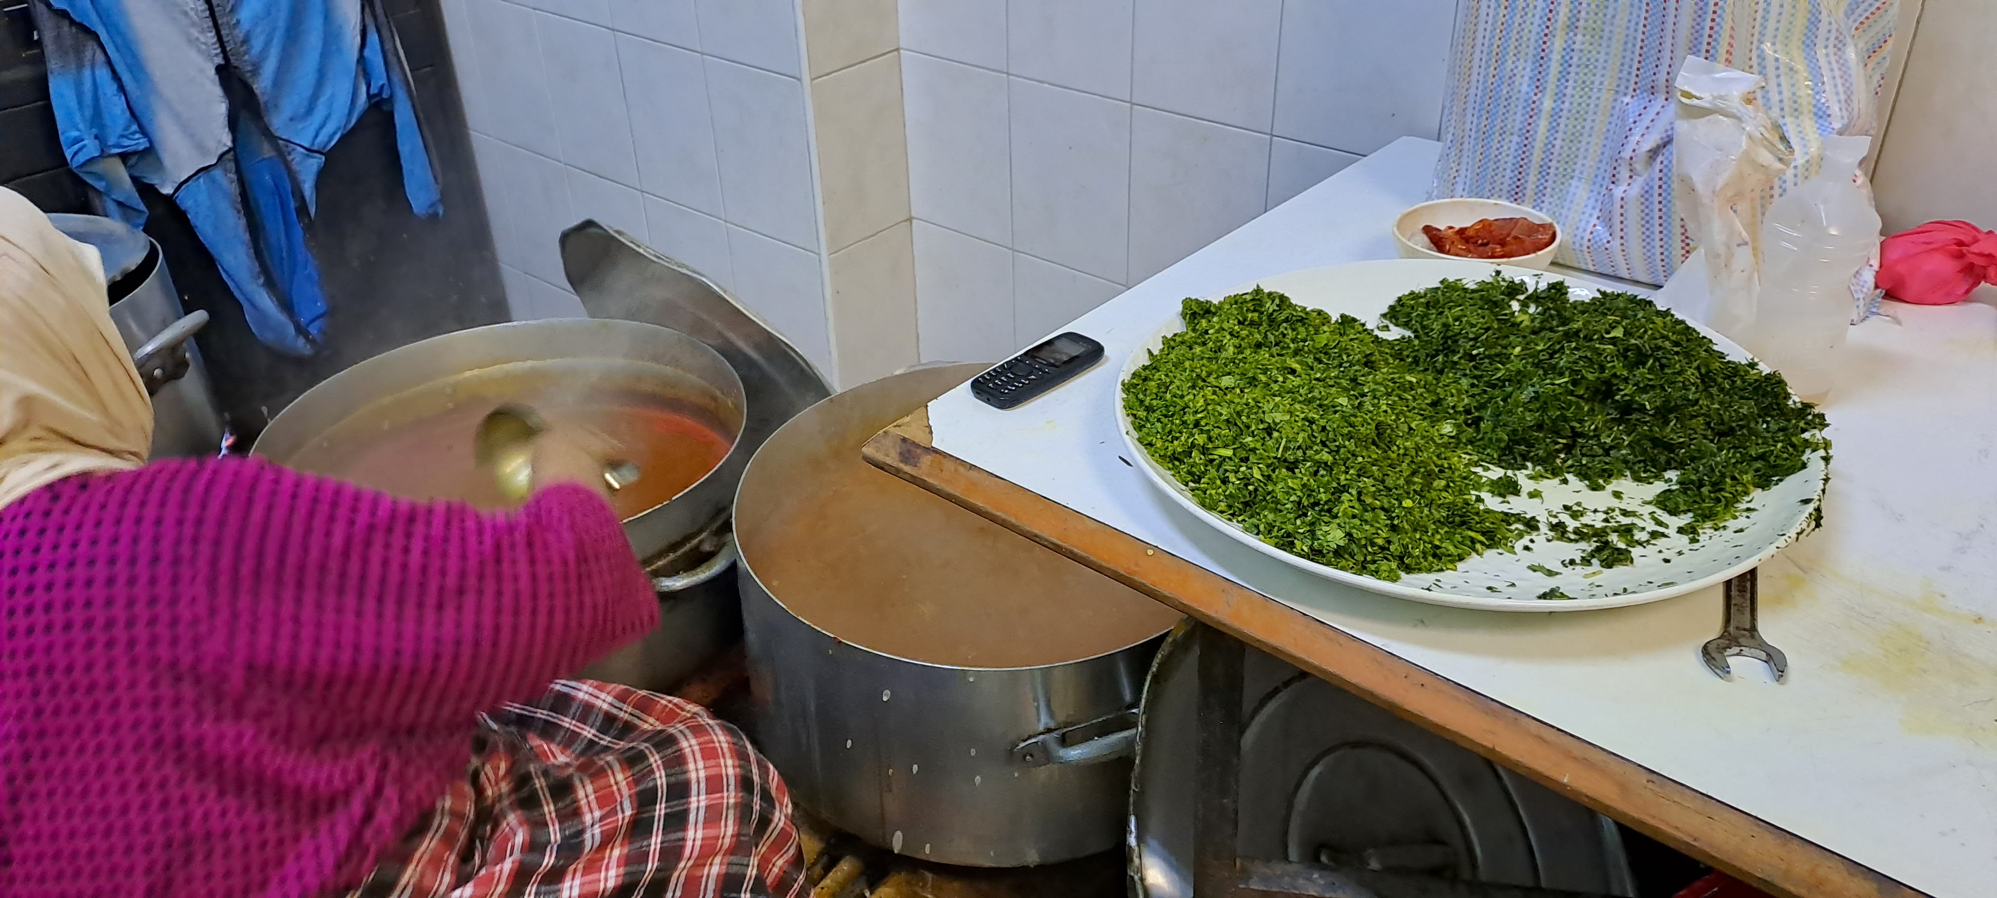
[[[471,20],[479,92],[491,114],[489,134],[541,156],[561,156],[547,100],[547,66],[533,28],[539,16],[505,0],[465,0],[465,14]]]

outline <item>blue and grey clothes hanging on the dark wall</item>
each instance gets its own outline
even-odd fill
[[[302,216],[326,152],[373,104],[403,194],[443,212],[407,72],[377,0],[34,0],[70,168],[106,214],[146,222],[134,180],[188,214],[266,345],[310,355],[326,293]]]

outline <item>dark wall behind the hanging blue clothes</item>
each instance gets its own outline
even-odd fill
[[[20,0],[0,0],[0,184],[48,212],[94,212],[94,192],[64,168],[26,12]],[[146,233],[160,241],[182,303],[212,315],[196,341],[244,445],[292,399],[355,361],[507,315],[437,0],[387,0],[387,12],[441,174],[443,216],[409,212],[389,116],[379,108],[361,116],[328,154],[320,206],[306,224],[328,301],[318,353],[298,359],[258,343],[186,216],[140,188],[150,206]]]

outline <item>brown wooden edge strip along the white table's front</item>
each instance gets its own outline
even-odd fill
[[[875,467],[1352,690],[1498,764],[1787,898],[1919,896],[1901,882],[1002,481],[931,445],[927,409],[875,435]],[[1715,744],[1715,752],[1725,746]]]

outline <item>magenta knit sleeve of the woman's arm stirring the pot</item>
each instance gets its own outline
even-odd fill
[[[244,511],[200,571],[240,627],[210,639],[248,696],[322,702],[383,730],[465,726],[643,635],[659,605],[595,493],[563,485],[509,515],[413,503],[260,461],[214,463]]]

